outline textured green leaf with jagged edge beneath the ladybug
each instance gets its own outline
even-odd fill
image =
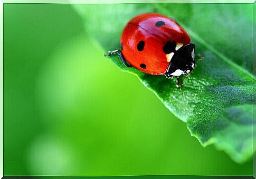
[[[142,3],[74,7],[84,18],[88,34],[104,51],[120,48],[122,29],[138,14],[158,12],[177,19],[191,36],[196,54],[204,57],[185,78],[182,90],[177,89],[176,79],[125,67],[117,55],[109,58],[121,70],[138,76],[169,111],[186,122],[191,135],[203,146],[213,143],[238,163],[252,157],[252,5]]]

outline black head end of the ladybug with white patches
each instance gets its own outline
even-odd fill
[[[165,72],[167,78],[190,73],[195,67],[195,45],[187,44],[174,52]]]

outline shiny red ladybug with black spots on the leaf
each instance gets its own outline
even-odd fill
[[[146,13],[132,18],[122,31],[120,46],[105,56],[118,54],[127,67],[151,75],[178,79],[195,67],[195,45],[191,38],[175,19],[161,14]]]

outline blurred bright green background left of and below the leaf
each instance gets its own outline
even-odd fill
[[[252,175],[252,161],[203,148],[72,5],[4,4],[4,175]]]

